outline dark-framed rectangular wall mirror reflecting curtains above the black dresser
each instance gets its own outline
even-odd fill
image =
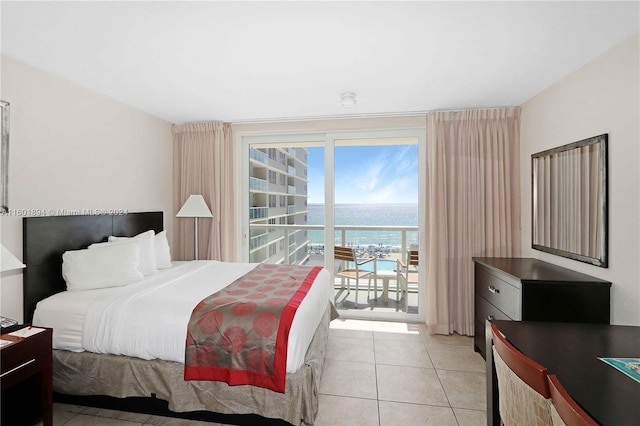
[[[531,155],[532,247],[606,268],[607,135]]]

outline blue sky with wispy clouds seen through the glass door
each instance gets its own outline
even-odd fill
[[[307,156],[308,202],[324,204],[324,148]],[[418,202],[418,145],[335,148],[335,203]]]

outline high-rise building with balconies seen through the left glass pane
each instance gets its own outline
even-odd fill
[[[249,261],[302,264],[307,231],[307,149],[250,148]]]

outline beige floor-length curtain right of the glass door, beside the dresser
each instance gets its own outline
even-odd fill
[[[426,316],[474,333],[474,256],[520,253],[520,108],[427,114]]]

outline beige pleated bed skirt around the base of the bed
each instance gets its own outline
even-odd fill
[[[173,412],[211,411],[258,414],[294,425],[314,423],[318,390],[329,336],[329,322],[337,318],[332,303],[316,328],[304,365],[287,373],[284,393],[224,382],[185,381],[184,364],[172,361],[53,351],[53,390],[67,395],[106,395],[116,398],[151,397],[167,401]]]

